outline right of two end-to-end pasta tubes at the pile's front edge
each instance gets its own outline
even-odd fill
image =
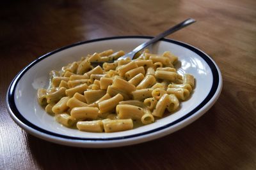
[[[104,119],[102,120],[102,123],[105,132],[127,131],[133,128],[133,122],[131,118],[119,120]]]

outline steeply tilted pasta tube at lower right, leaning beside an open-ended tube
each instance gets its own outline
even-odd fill
[[[157,102],[156,109],[152,112],[152,115],[154,115],[155,117],[163,117],[164,110],[168,106],[169,100],[169,95],[164,94]]]

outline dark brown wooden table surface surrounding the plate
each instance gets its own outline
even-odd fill
[[[256,169],[256,1],[6,1],[0,7],[0,169]],[[74,148],[31,136],[13,122],[8,85],[36,58],[77,41],[154,36],[186,18],[168,38],[209,54],[223,89],[204,116],[154,141]]]

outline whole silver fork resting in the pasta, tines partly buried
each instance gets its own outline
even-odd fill
[[[188,18],[186,20],[184,20],[183,22],[180,22],[179,24],[171,27],[170,29],[162,32],[161,34],[157,35],[156,37],[150,39],[149,41],[146,41],[145,43],[142,43],[141,45],[137,46],[136,48],[134,48],[134,50],[132,50],[129,53],[126,53],[125,55],[123,55],[122,57],[119,57],[117,60],[122,60],[125,59],[127,57],[133,59],[133,57],[136,55],[136,53],[140,52],[141,50],[143,50],[144,48],[146,48],[148,45],[151,45],[152,43],[155,43],[156,41],[158,41],[161,38],[164,38],[165,36],[168,36],[169,34],[172,34],[175,31],[178,31],[179,29],[182,29],[190,24],[193,24],[194,22],[196,22],[196,20],[194,20],[193,18]],[[115,60],[109,60],[108,62],[114,62]],[[104,62],[91,62],[91,65],[93,67],[95,66],[101,66]]]

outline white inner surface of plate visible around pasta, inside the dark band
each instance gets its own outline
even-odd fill
[[[129,136],[152,131],[159,127],[164,127],[181,117],[184,117],[190,111],[194,110],[198,104],[204,101],[212,87],[212,71],[207,62],[200,55],[185,48],[184,46],[171,43],[170,41],[159,41],[154,46],[149,46],[152,53],[163,53],[170,51],[179,57],[181,63],[179,73],[190,73],[195,76],[196,87],[188,101],[182,102],[180,110],[168,115],[154,124],[145,125],[124,132],[114,133],[92,133],[81,132],[77,129],[69,129],[58,124],[54,117],[48,115],[44,109],[36,101],[36,91],[38,88],[47,88],[49,83],[49,72],[52,69],[60,70],[62,66],[79,60],[87,54],[94,52],[102,52],[104,50],[113,49],[114,51],[124,50],[131,51],[134,47],[147,41],[147,38],[120,38],[120,39],[104,39],[102,41],[92,41],[89,43],[79,43],[77,45],[67,46],[49,53],[37,61],[33,62],[20,77],[15,89],[15,105],[22,117],[29,122],[45,129],[46,131],[62,134],[65,136],[74,136],[79,138],[115,138],[120,136]]]

